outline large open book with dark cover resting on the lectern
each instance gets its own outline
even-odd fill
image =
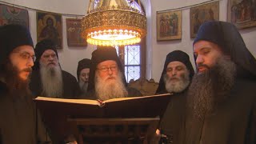
[[[35,98],[42,113],[65,114],[75,118],[153,118],[162,116],[170,94],[113,98],[106,101],[90,99]]]

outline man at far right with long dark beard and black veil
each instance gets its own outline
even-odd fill
[[[186,144],[256,142],[256,60],[236,27],[206,22],[194,39]],[[185,138],[185,137],[184,137]]]

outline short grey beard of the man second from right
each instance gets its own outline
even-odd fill
[[[181,77],[175,76],[172,78],[177,78],[177,80],[172,80],[172,78],[168,77],[167,74],[164,75],[164,82],[166,84],[166,90],[168,93],[179,93],[186,89],[187,86],[190,85],[190,74],[186,72],[182,74]]]

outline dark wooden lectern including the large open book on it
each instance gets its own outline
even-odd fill
[[[54,143],[74,135],[79,144],[145,143],[157,129],[170,94],[95,100],[34,99]],[[149,143],[149,142],[146,142]]]

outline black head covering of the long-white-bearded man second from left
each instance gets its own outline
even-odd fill
[[[40,68],[40,64],[39,61],[41,59],[42,54],[46,51],[46,50],[54,50],[54,52],[57,55],[58,58],[58,52],[56,50],[56,43],[50,39],[43,39],[41,42],[38,42],[37,45],[35,46],[35,56],[37,57],[36,61],[34,62],[34,66],[33,69],[34,70],[38,70]]]

